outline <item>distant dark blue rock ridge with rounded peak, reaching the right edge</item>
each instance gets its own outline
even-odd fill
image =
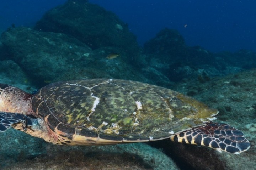
[[[170,81],[223,76],[256,67],[256,53],[249,50],[212,53],[200,46],[189,47],[174,29],[162,29],[144,44],[143,64],[164,74]]]

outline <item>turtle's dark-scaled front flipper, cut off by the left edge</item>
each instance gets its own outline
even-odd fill
[[[24,114],[0,112],[0,133],[18,123],[22,123],[24,128],[26,128],[27,125],[32,125],[31,119]]]

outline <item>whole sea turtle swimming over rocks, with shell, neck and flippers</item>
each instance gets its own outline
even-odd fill
[[[238,154],[244,134],[191,97],[137,81],[86,79],[49,84],[35,94],[0,84],[0,132],[13,127],[62,145],[108,145],[170,138]]]

